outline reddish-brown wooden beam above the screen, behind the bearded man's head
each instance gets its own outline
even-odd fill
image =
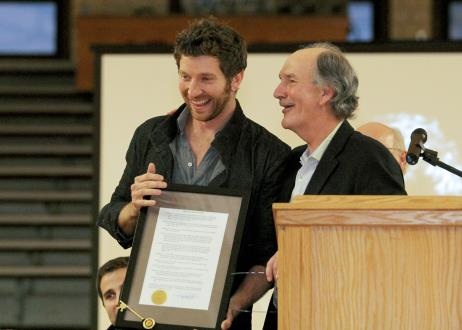
[[[92,45],[172,45],[177,33],[194,19],[189,16],[78,17],[77,89],[93,89]],[[229,16],[219,19],[238,30],[249,45],[344,41],[348,32],[345,16]]]

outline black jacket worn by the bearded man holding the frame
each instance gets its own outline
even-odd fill
[[[133,238],[123,235],[117,226],[117,218],[120,210],[131,200],[130,185],[135,176],[146,172],[149,162],[155,163],[156,171],[169,182],[173,171],[169,143],[177,135],[177,118],[184,109],[185,105],[182,105],[175,114],[149,119],[136,129],[119,185],[109,204],[103,207],[98,216],[98,225],[125,248],[131,246]],[[209,186],[251,192],[237,271],[248,271],[254,265],[264,266],[277,249],[271,206],[278,198],[290,148],[265,128],[246,118],[239,103],[212,145],[218,150],[226,169]],[[233,290],[242,279],[243,276],[236,278]]]

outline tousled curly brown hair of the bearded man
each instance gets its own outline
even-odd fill
[[[247,67],[244,38],[213,17],[195,20],[177,35],[173,56],[178,68],[183,55],[216,57],[228,81]]]

